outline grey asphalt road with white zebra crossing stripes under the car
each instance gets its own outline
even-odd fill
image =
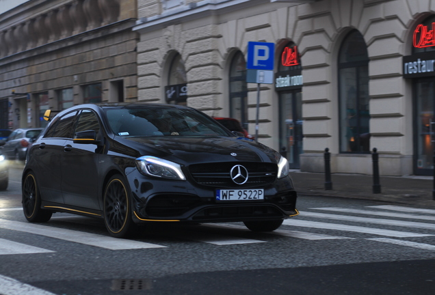
[[[98,219],[30,224],[20,169],[0,192],[1,295],[432,294],[435,210],[300,197],[272,234],[241,223],[155,225],[131,240]]]

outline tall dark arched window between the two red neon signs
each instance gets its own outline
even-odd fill
[[[338,68],[340,152],[369,152],[369,55],[359,31],[343,41]]]

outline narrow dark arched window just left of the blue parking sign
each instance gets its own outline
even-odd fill
[[[248,130],[248,87],[246,86],[246,61],[238,51],[230,66],[230,117],[241,122]]]

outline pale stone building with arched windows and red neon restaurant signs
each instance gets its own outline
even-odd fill
[[[371,174],[376,148],[382,175],[427,175],[434,14],[434,0],[139,0],[139,100],[236,117],[254,133],[248,42],[272,42],[259,141],[302,171],[324,171],[329,148],[332,172]]]

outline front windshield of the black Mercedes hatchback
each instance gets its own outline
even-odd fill
[[[231,135],[193,109],[149,106],[105,109],[105,113],[112,132],[122,137]]]

